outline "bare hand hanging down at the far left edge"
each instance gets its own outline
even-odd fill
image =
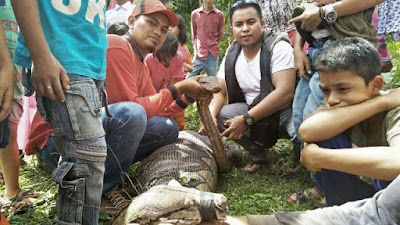
[[[11,111],[14,97],[14,71],[11,63],[0,69],[0,121],[3,121]]]

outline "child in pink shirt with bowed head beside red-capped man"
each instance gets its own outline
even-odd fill
[[[153,54],[148,54],[145,58],[150,78],[157,92],[185,79],[183,73],[185,61],[177,50],[178,40],[172,33],[168,33],[160,49]],[[184,111],[177,113],[174,119],[179,129],[183,130],[185,127]]]

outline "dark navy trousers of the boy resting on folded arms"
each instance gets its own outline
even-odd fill
[[[345,133],[316,143],[322,148],[330,148],[332,151],[341,148],[351,148],[351,142]],[[328,206],[342,205],[349,201],[361,200],[372,197],[376,189],[362,181],[358,176],[334,170],[322,169],[311,174],[318,188],[325,194]]]

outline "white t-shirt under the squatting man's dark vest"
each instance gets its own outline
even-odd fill
[[[272,50],[272,74],[294,68],[293,48],[286,41],[278,42]],[[236,79],[243,91],[246,103],[250,105],[254,98],[260,94],[260,51],[256,57],[247,62],[243,50],[240,52],[235,65]],[[225,80],[225,57],[222,60],[217,76]]]

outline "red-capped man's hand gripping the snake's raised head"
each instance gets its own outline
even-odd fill
[[[194,76],[194,77],[182,80],[182,81],[176,83],[175,87],[179,90],[180,94],[187,94],[190,97],[192,97],[198,101],[210,99],[212,97],[212,94],[218,93],[218,91],[212,93],[212,92],[204,89],[198,82],[198,80],[201,77],[202,76]]]

